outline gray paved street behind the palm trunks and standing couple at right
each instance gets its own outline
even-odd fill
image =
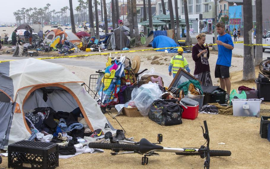
[[[191,34],[191,37],[196,37],[198,34]],[[213,43],[213,35],[207,34],[206,35],[206,43]],[[232,40],[234,41],[234,37],[232,37]],[[243,41],[244,38],[240,37],[239,39],[237,39],[237,41]],[[256,43],[256,39],[254,39],[254,43]],[[236,43],[234,44],[234,50],[233,50],[233,54],[238,54],[238,55],[244,55],[244,46],[243,43]],[[263,52],[263,59],[266,59],[267,57],[270,57],[270,49],[266,49],[265,52]]]

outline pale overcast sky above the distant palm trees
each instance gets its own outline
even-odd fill
[[[69,0],[0,0],[1,1],[1,10],[0,10],[0,23],[1,24],[9,24],[15,23],[15,17],[13,12],[17,10],[21,10],[23,7],[28,8],[43,8],[46,6],[47,3],[51,4],[49,10],[56,10],[60,11],[61,8],[68,6],[69,7]],[[86,0],[84,0],[86,1]],[[100,1],[100,0],[98,0]],[[106,0],[109,2],[110,0]],[[120,2],[120,0],[119,0]],[[77,0],[72,0],[73,10],[75,7],[79,5]],[[100,9],[100,7],[98,7]],[[76,14],[76,11],[74,11]]]

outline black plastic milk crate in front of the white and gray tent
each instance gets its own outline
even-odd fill
[[[8,145],[8,167],[53,169],[59,166],[58,144],[18,141]]]

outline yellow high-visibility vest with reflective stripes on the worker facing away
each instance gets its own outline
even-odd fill
[[[170,64],[172,66],[172,73],[177,73],[180,68],[185,69],[188,67],[188,62],[182,55],[176,55],[171,58]]]

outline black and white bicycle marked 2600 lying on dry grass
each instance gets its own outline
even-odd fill
[[[168,148],[160,145],[162,142],[162,134],[158,134],[158,143],[150,143],[147,139],[142,138],[139,142],[127,141],[127,140],[116,140],[115,143],[89,143],[89,148],[107,149],[112,150],[112,155],[118,154],[142,154],[142,165],[148,164],[148,157],[158,155],[156,152],[170,152],[177,155],[200,155],[201,158],[205,158],[204,168],[209,169],[210,167],[210,156],[231,156],[231,151],[225,150],[210,150],[209,149],[209,132],[207,123],[204,121],[203,130],[204,139],[206,139],[206,146],[201,145],[200,148]],[[205,132],[204,132],[205,129]],[[110,139],[107,139],[109,141]],[[112,142],[112,141],[111,141]]]

